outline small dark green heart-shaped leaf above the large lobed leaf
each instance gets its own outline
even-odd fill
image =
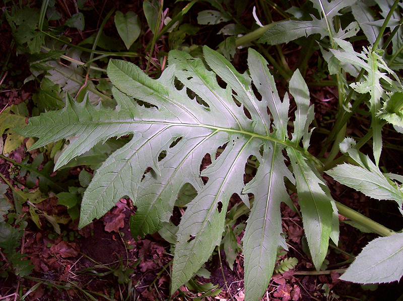
[[[131,11],[126,14],[116,12],[115,25],[124,45],[129,49],[140,36],[141,23],[139,17]]]

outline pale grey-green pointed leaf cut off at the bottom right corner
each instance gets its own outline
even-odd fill
[[[398,281],[403,275],[403,233],[371,241],[340,277],[356,283]]]

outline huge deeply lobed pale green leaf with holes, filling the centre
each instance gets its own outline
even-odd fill
[[[316,268],[324,258],[329,237],[337,240],[337,225],[331,225],[336,209],[309,160],[308,126],[313,108],[299,71],[290,81],[297,104],[290,140],[288,95],[281,101],[261,55],[249,49],[249,73],[244,74],[208,47],[204,47],[204,59],[210,70],[199,58],[171,51],[169,66],[159,79],[149,78],[131,63],[111,60],[108,76],[115,86],[115,110],[92,106],[88,100],[76,103],[69,96],[63,109],[31,118],[19,132],[39,137],[33,147],[75,137],[56,168],[100,141],[130,135],[130,141],[97,169],[83,197],[79,227],[102,217],[120,197],[128,196],[137,206],[130,221],[132,235],[153,233],[169,221],[183,185],[195,188],[197,195],[187,204],[177,232],[172,291],[185,283],[220,243],[231,195],[237,193],[249,206],[248,193],[253,193],[243,237],[245,298],[258,300],[270,281],[278,247],[286,248],[280,204],[290,203],[285,178],[295,180],[285,165],[283,150],[292,158]],[[227,84],[225,88],[218,84],[217,76]],[[252,81],[261,99],[253,91]],[[212,164],[200,172],[206,154]],[[245,163],[250,156],[255,156],[260,166],[245,185]],[[201,176],[208,178],[207,183]]]

